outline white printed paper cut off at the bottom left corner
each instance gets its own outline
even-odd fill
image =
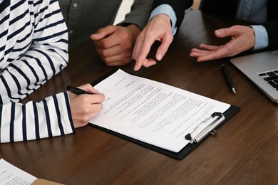
[[[19,169],[18,167],[0,159],[0,184],[1,185],[27,185],[33,183],[37,178]]]

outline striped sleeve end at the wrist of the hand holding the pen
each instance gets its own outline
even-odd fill
[[[20,142],[75,132],[68,94],[58,93],[41,102],[0,105],[0,141]]]

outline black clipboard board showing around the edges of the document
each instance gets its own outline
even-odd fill
[[[116,69],[118,70],[118,69]],[[110,73],[107,73],[106,75],[103,75],[101,78],[99,78],[98,80],[94,81],[93,83],[91,83],[91,85],[96,85],[98,83],[100,83],[102,80],[104,80],[105,78],[107,78],[108,76],[110,76],[111,74],[115,73],[116,70],[112,70]],[[148,144],[146,142],[142,142],[138,139],[134,139],[132,137],[128,137],[124,134],[120,134],[118,132],[114,132],[113,130],[110,129],[106,129],[104,127],[100,127],[98,125],[93,125],[93,124],[89,124],[91,127],[95,127],[97,129],[100,129],[104,132],[108,132],[109,134],[113,134],[117,137],[120,137],[122,139],[125,139],[129,142],[133,142],[135,144],[138,144],[142,147],[145,147],[147,149],[151,149],[155,152],[158,152],[160,154],[164,154],[165,156],[168,157],[172,157],[173,159],[177,159],[177,160],[181,160],[183,158],[185,158],[185,156],[187,154],[189,154],[190,152],[192,152],[193,149],[195,149],[196,147],[198,147],[202,142],[205,141],[205,139],[207,139],[207,137],[210,137],[212,134],[214,134],[216,132],[216,130],[221,127],[222,125],[225,124],[225,122],[227,122],[227,120],[230,120],[231,117],[233,117],[237,112],[240,111],[240,107],[231,105],[230,108],[228,110],[226,110],[225,112],[222,112],[220,115],[212,115],[212,118],[215,117],[215,119],[218,119],[218,117],[222,117],[222,120],[220,122],[218,122],[215,127],[213,127],[211,130],[209,130],[209,132],[207,132],[207,134],[204,134],[202,137],[200,137],[200,139],[198,139],[197,141],[194,140],[194,138],[190,138],[192,141],[185,145],[185,147],[183,147],[180,152],[171,152],[167,149],[163,149],[160,147],[156,147],[153,144]],[[218,112],[219,113],[219,112]],[[211,117],[207,117],[207,120],[210,120]],[[215,122],[215,119],[212,120],[212,123]],[[204,120],[205,122],[205,120]],[[190,133],[189,133],[190,134]],[[185,135],[185,139],[188,137],[188,135]]]

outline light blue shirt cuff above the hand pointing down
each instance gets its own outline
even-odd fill
[[[152,19],[154,16],[158,14],[166,14],[171,18],[172,31],[173,31],[173,35],[175,35],[175,33],[177,32],[177,16],[175,15],[175,11],[173,10],[173,8],[168,4],[162,4],[156,7],[151,12],[149,21],[150,19]]]

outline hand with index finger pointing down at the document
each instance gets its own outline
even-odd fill
[[[136,60],[134,70],[139,70],[142,65],[148,68],[156,64],[155,60],[147,58],[155,41],[161,42],[155,54],[156,60],[161,60],[173,41],[170,17],[166,14],[154,16],[139,34],[133,50],[133,59]]]

